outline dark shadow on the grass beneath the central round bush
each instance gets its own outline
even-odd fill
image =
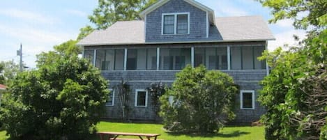
[[[236,130],[231,133],[221,134],[221,133],[207,133],[207,134],[199,134],[199,133],[181,133],[181,132],[166,132],[168,135],[178,137],[181,135],[186,135],[189,137],[204,137],[204,138],[213,138],[213,137],[224,137],[224,138],[231,138],[231,137],[240,137],[245,134],[250,134],[250,132],[241,132]]]

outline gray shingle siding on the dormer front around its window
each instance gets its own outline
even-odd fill
[[[190,34],[162,35],[163,13],[190,13]],[[180,42],[206,38],[206,12],[180,0],[171,0],[146,15],[146,42]]]

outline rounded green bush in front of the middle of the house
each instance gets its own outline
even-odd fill
[[[234,118],[234,98],[238,88],[233,79],[222,72],[186,66],[176,74],[171,89],[160,98],[164,127],[176,132],[216,132],[225,114]],[[169,97],[174,101],[169,102]]]

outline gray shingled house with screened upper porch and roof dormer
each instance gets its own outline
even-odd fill
[[[268,66],[257,57],[274,36],[260,16],[215,17],[211,8],[194,0],[160,0],[140,15],[142,20],[116,22],[78,42],[84,57],[110,81],[109,89],[121,79],[128,81],[130,119],[153,120],[146,88],[159,81],[172,84],[176,72],[188,64],[204,64],[234,77],[241,88],[237,122],[264,114],[256,99]],[[121,118],[119,98],[112,91],[105,118]]]

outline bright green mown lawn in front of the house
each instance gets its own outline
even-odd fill
[[[162,130],[162,125],[140,123],[109,123],[98,124],[98,131],[158,133],[158,139],[165,140],[261,140],[264,139],[264,127],[233,126],[224,127],[218,134],[174,134]],[[0,131],[0,140],[5,140],[5,132]],[[98,140],[99,138],[96,137]]]

